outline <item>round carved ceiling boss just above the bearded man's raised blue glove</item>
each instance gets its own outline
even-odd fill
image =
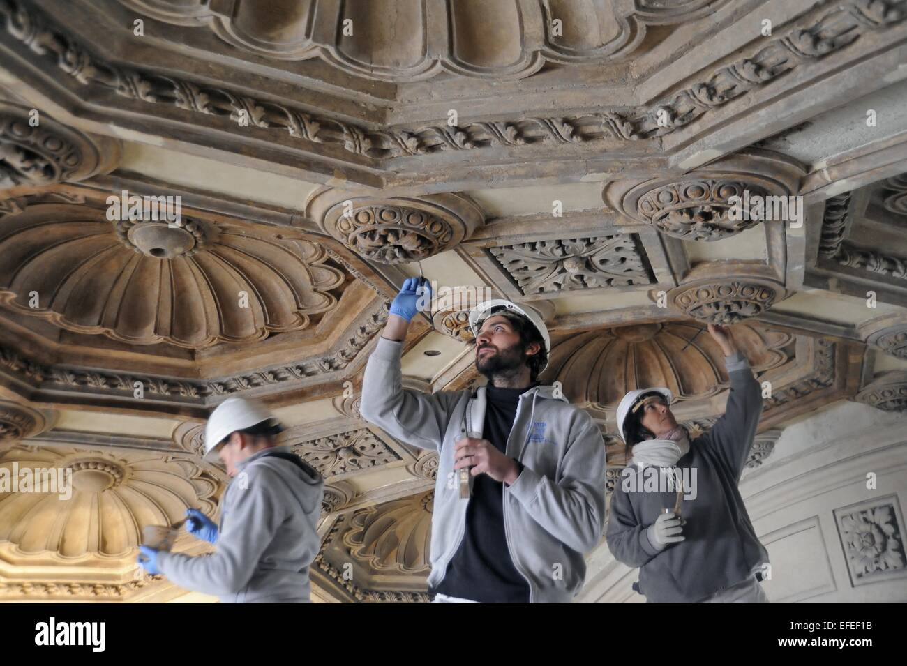
[[[403,264],[452,249],[483,223],[472,200],[457,194],[422,198],[353,198],[324,189],[309,199],[309,217],[370,261]]]

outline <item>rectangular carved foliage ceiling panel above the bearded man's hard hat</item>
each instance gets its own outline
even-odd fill
[[[489,252],[524,295],[653,281],[637,236],[554,238]]]

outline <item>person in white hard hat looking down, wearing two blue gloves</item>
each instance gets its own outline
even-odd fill
[[[194,536],[216,546],[191,557],[141,546],[139,564],[224,603],[307,603],[308,567],[318,554],[324,482],[314,468],[276,444],[283,430],[258,401],[229,398],[205,427],[205,459],[234,477],[220,503],[220,524],[187,512]]]

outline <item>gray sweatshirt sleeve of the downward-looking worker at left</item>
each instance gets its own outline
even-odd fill
[[[212,555],[158,555],[159,568],[171,582],[203,594],[227,596],[242,590],[265,548],[286,517],[273,488],[278,478],[268,468],[249,468],[248,487],[231,486],[225,497],[225,520]],[[236,481],[234,481],[236,484]],[[246,484],[243,484],[246,485]]]

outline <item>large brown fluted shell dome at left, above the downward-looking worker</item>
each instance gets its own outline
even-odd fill
[[[5,217],[0,256],[0,302],[20,313],[190,349],[304,329],[336,305],[330,290],[345,279],[323,246],[297,232],[112,222],[102,210],[66,205]]]

